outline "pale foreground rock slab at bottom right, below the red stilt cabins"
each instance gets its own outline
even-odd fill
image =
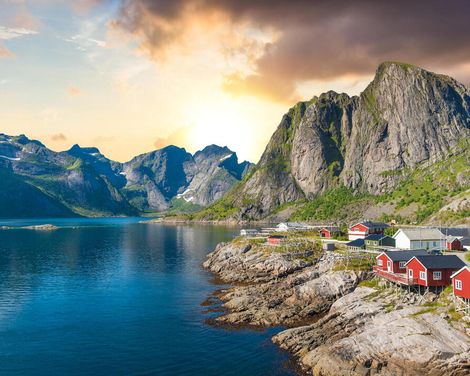
[[[412,305],[387,313],[358,288],[328,315],[289,329],[274,342],[300,358],[314,375],[467,375],[468,337],[439,315],[416,315]]]

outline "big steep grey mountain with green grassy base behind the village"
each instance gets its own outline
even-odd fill
[[[292,107],[256,167],[196,218],[468,220],[469,136],[467,87],[385,62],[358,96]]]

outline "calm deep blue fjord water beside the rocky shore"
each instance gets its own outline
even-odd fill
[[[292,375],[274,330],[207,325],[201,268],[234,228],[137,219],[0,231],[2,375]]]

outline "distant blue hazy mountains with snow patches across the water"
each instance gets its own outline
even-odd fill
[[[192,211],[220,199],[250,167],[216,145],[194,155],[167,146],[119,163],[95,147],[55,152],[0,134],[0,217]]]

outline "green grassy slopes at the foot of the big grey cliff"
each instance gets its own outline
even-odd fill
[[[397,219],[402,223],[422,223],[431,218],[442,223],[459,223],[470,217],[470,207],[452,202],[468,198],[470,201],[470,142],[462,140],[459,148],[447,159],[432,165],[420,165],[414,170],[387,171],[401,182],[390,193],[373,196],[338,186],[308,201],[297,201],[297,209],[290,220],[347,222],[364,217],[374,209],[374,217],[382,220]],[[191,219],[227,220],[238,212],[235,202],[240,202],[240,187],[235,186],[226,196],[208,208],[190,216]],[[242,197],[249,204],[249,197]],[[443,207],[448,209],[442,210]],[[384,209],[386,208],[386,209]],[[275,212],[279,212],[279,207]]]

